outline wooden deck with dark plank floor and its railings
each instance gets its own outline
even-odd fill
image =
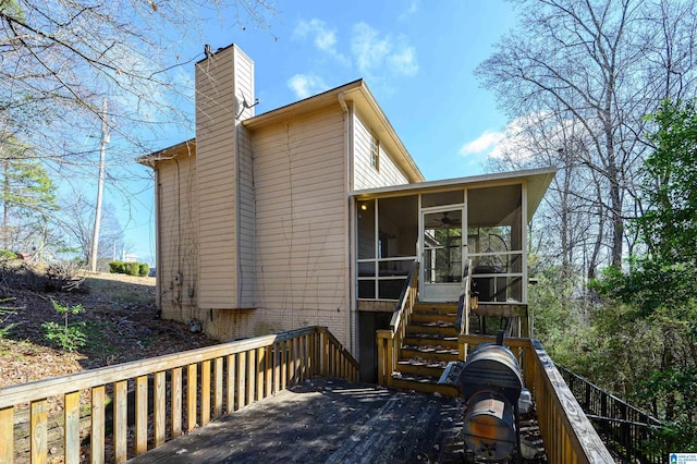
[[[381,378],[395,338],[378,338]],[[490,339],[460,334],[460,358]],[[526,441],[543,461],[613,462],[541,344],[505,344],[534,392]],[[307,327],[0,388],[0,463],[462,462],[458,399],[357,373],[327,328]]]

